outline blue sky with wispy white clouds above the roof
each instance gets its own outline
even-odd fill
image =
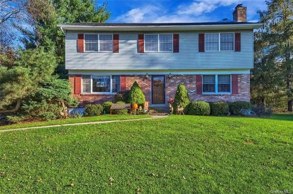
[[[111,17],[107,22],[216,22],[224,18],[232,21],[237,4],[247,7],[248,22],[257,22],[259,15],[256,11],[267,8],[265,0],[108,0]]]

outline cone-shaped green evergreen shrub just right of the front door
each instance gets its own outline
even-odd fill
[[[177,106],[182,106],[184,112],[187,111],[186,107],[190,103],[188,91],[185,88],[184,84],[179,84],[175,93],[175,98],[173,102],[173,108],[176,110]]]

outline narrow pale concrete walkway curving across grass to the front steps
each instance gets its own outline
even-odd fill
[[[71,126],[71,125],[87,125],[87,124],[102,124],[102,123],[114,123],[114,122],[126,122],[126,121],[138,121],[138,120],[147,120],[147,119],[157,119],[157,118],[164,118],[168,116],[151,116],[148,118],[141,118],[141,119],[126,119],[126,120],[113,120],[113,121],[95,121],[95,122],[85,122],[85,123],[70,123],[70,124],[59,124],[59,125],[46,125],[46,126],[40,126],[40,127],[25,127],[25,128],[18,128],[18,129],[3,129],[0,130],[1,132],[8,132],[8,131],[20,131],[20,130],[26,130],[26,129],[40,129],[40,128],[49,128],[49,127],[63,127],[63,126]]]

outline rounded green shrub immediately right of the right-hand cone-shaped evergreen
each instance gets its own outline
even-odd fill
[[[193,101],[189,103],[187,108],[188,115],[209,115],[209,103],[203,101]]]

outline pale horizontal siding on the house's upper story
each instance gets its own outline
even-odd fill
[[[241,52],[198,52],[198,33],[179,34],[179,53],[138,53],[138,34],[119,32],[119,53],[77,52],[77,34],[66,32],[66,69],[68,70],[218,70],[253,68],[253,31],[241,30]],[[233,31],[234,32],[234,31]],[[235,31],[236,32],[236,31]],[[98,32],[97,32],[98,33]],[[108,32],[110,33],[110,32]]]

